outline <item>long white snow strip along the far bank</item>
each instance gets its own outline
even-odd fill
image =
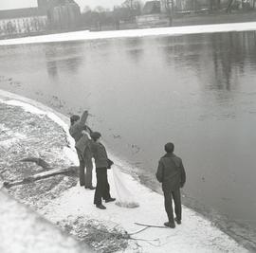
[[[182,35],[196,33],[228,32],[256,30],[256,22],[231,23],[217,25],[199,25],[184,27],[157,27],[147,29],[128,29],[112,31],[74,31],[59,34],[40,35],[34,37],[1,40],[0,45],[19,45],[35,43],[51,43],[63,41],[84,41],[95,39],[131,38],[155,35]]]

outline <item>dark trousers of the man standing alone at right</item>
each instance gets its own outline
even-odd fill
[[[174,210],[173,210],[174,199]],[[180,190],[164,190],[164,207],[170,223],[174,223],[174,212],[177,220],[181,221]]]

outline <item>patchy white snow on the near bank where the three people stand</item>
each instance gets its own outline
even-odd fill
[[[7,95],[9,97],[7,98]],[[29,99],[11,95],[0,90],[0,98],[9,104],[22,106],[30,112],[36,114],[43,111],[35,110],[30,104],[39,104]],[[19,102],[14,102],[13,98],[19,99]],[[29,104],[27,101],[29,100]],[[41,104],[41,107],[44,107]],[[45,109],[47,107],[45,106]],[[50,111],[50,114],[47,113]],[[63,120],[61,117],[54,116],[51,109],[48,108],[46,115],[52,117],[55,122],[60,123],[65,129],[67,128],[67,118]],[[67,133],[68,135],[68,133]],[[77,157],[74,150],[67,147],[64,148],[64,154],[77,163]],[[113,172],[121,174],[122,184],[126,189],[136,195],[136,200],[139,204],[138,208],[120,208],[115,203],[107,203],[105,210],[96,208],[93,205],[94,190],[84,190],[79,185],[69,190],[64,191],[60,198],[54,199],[49,205],[41,209],[41,213],[51,222],[57,223],[68,217],[90,217],[103,222],[106,226],[109,224],[119,224],[132,234],[137,232],[142,226],[137,226],[135,223],[145,223],[151,225],[162,226],[167,221],[167,216],[164,210],[163,196],[147,189],[140,185],[131,175],[119,171],[119,167],[128,166],[119,160],[118,157],[111,155],[111,159],[115,164],[111,170],[108,170],[109,183],[111,187],[111,195],[116,197],[119,195],[115,188]],[[93,177],[95,182],[95,172]],[[157,252],[248,252],[243,246],[237,244],[227,234],[220,231],[217,227],[212,226],[210,221],[202,217],[190,208],[183,207],[182,225],[172,228],[147,228],[144,231],[136,233],[133,238],[140,239],[137,241],[139,252],[157,253]],[[141,241],[144,240],[144,241]],[[138,252],[133,249],[133,242],[125,252]]]

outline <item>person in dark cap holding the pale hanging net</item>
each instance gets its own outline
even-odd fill
[[[115,198],[110,196],[110,188],[107,180],[107,169],[110,169],[113,162],[108,159],[106,149],[100,142],[101,134],[99,132],[94,132],[91,134],[92,143],[91,151],[95,159],[96,167],[96,178],[97,185],[94,194],[94,204],[97,208],[105,209],[105,206],[102,205],[102,199],[105,202],[115,201]]]

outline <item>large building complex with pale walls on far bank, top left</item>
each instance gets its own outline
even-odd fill
[[[0,10],[0,37],[46,33],[79,25],[81,11],[74,0],[37,0],[37,8]]]

